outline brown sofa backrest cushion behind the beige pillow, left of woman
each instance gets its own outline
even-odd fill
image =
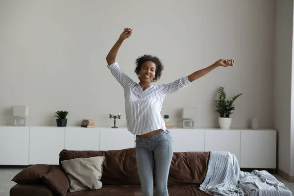
[[[104,156],[103,175],[101,182],[104,185],[140,185],[137,170],[135,148],[108,151],[78,151],[62,150],[59,153],[59,163],[63,169],[61,161],[79,157]]]

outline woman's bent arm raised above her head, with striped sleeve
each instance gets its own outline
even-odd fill
[[[121,45],[123,44],[123,41],[131,36],[132,31],[133,29],[131,28],[124,28],[120,38],[106,56],[108,69],[117,79],[117,81],[123,86],[123,88],[127,87],[130,83],[133,82],[133,80],[123,72],[119,64],[116,62],[116,56]]]

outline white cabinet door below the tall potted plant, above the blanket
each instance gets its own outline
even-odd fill
[[[240,130],[205,130],[205,151],[228,151],[240,165]]]

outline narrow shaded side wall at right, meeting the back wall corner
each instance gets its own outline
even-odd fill
[[[292,48],[293,48],[293,0],[277,0],[276,38],[274,66],[274,128],[278,130],[278,169],[291,172],[291,105]],[[291,154],[292,152],[292,154]],[[293,162],[294,163],[294,162]],[[293,165],[293,164],[292,164]],[[293,171],[293,170],[292,170]]]

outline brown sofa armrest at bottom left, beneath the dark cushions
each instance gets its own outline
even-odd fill
[[[42,184],[16,184],[10,189],[9,196],[54,196],[54,194]]]

